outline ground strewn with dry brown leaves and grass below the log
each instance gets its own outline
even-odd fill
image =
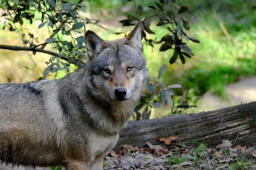
[[[214,148],[200,144],[197,148],[177,145],[152,145],[112,151],[105,157],[104,169],[256,169],[254,147],[232,147],[224,140]]]

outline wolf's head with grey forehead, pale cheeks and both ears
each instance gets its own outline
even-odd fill
[[[92,94],[109,102],[138,100],[148,76],[139,24],[123,39],[105,41],[88,30],[85,40]]]

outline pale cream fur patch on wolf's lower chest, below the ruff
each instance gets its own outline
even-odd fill
[[[94,157],[106,155],[117,143],[118,138],[118,134],[109,137],[97,134],[90,135],[89,145],[91,155],[94,155]]]

